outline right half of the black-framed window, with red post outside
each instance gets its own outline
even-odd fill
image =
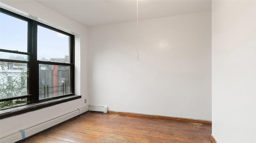
[[[72,93],[70,43],[71,36],[49,29],[45,25],[37,26],[39,100]]]

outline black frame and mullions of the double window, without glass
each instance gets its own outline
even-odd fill
[[[17,54],[23,54],[23,55],[29,55],[30,58],[28,61],[19,61],[19,60],[11,60],[11,59],[0,59],[1,62],[13,62],[13,63],[27,63],[28,66],[28,82],[27,82],[27,87],[28,87],[28,94],[24,96],[16,96],[12,98],[2,98],[0,99],[0,102],[4,101],[9,101],[9,100],[15,100],[15,99],[21,99],[21,98],[27,98],[27,101],[29,104],[32,103],[38,103],[38,102],[43,102],[45,100],[51,100],[51,99],[58,99],[58,98],[64,98],[67,96],[74,96],[75,93],[75,81],[74,81],[74,35],[67,33],[65,31],[62,31],[60,29],[56,29],[54,27],[51,27],[49,25],[40,23],[36,20],[32,20],[30,18],[26,18],[24,16],[21,16],[19,14],[16,14],[14,12],[10,12],[8,10],[5,10],[3,8],[0,8],[0,12],[3,14],[7,14],[9,16],[18,18],[20,20],[24,20],[28,22],[28,51],[27,52],[20,52],[20,51],[12,51],[12,50],[7,50],[7,49],[0,49],[2,52],[7,52],[7,53],[17,53]],[[70,37],[70,63],[57,63],[57,62],[50,62],[50,61],[39,61],[37,59],[37,27],[42,26],[45,28],[48,28],[50,30],[62,33],[64,35],[68,35]],[[42,99],[39,100],[39,64],[47,64],[47,65],[62,65],[62,66],[69,66],[70,67],[70,94],[65,94],[62,96],[56,96],[56,97],[51,97],[50,99]],[[80,96],[81,98],[81,96]],[[77,99],[77,98],[76,98]],[[67,100],[68,101],[68,100]],[[58,104],[58,103],[57,103]],[[17,107],[17,106],[15,106]],[[2,109],[0,109],[2,110]]]

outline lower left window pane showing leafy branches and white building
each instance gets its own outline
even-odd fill
[[[0,99],[28,94],[26,63],[0,62]]]

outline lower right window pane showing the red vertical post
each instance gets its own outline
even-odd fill
[[[70,94],[70,87],[69,66],[39,64],[39,100]]]

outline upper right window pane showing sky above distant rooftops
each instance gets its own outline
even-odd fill
[[[37,59],[58,63],[70,63],[70,37],[38,25]]]

